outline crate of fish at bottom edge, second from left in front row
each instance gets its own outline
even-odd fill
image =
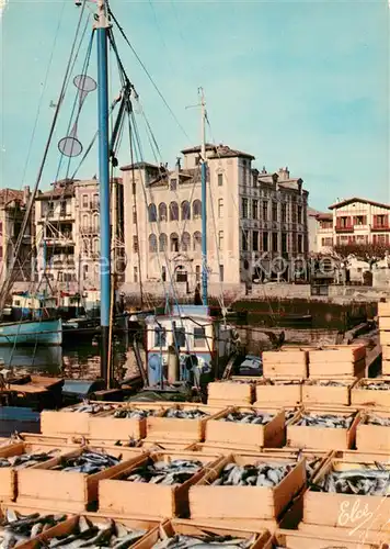
[[[138,518],[118,520],[93,515],[71,516],[39,534],[34,547],[125,549],[135,546],[158,525],[156,520]]]

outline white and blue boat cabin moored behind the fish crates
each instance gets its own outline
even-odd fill
[[[146,318],[149,384],[167,380],[170,355],[180,361],[180,381],[198,381],[225,368],[237,337],[216,310],[203,305],[177,305],[171,314]]]

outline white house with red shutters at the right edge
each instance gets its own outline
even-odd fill
[[[319,251],[348,244],[390,244],[390,204],[352,198],[330,206],[318,216]]]

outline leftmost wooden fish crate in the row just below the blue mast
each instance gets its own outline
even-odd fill
[[[105,404],[107,406],[119,407],[123,403],[117,402],[91,402],[90,404]],[[84,404],[78,405],[82,407]],[[90,414],[83,412],[69,412],[74,406],[68,406],[60,411],[44,410],[41,413],[41,433],[43,435],[83,435],[88,436],[90,432],[90,417],[100,414]],[[102,412],[104,413],[104,412]]]

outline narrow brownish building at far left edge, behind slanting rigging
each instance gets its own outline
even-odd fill
[[[14,247],[22,227],[26,205],[30,200],[30,188],[23,191],[14,189],[0,190],[0,283],[10,276],[10,267],[14,257]],[[23,235],[19,257],[14,266],[15,281],[30,281],[32,266],[32,222]]]

